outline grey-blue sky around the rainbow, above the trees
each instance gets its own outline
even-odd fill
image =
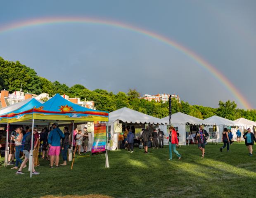
[[[20,61],[52,82],[114,94],[128,88],[142,95],[175,93],[190,105],[213,108],[220,100],[256,108],[255,0],[0,0],[0,5],[0,57]],[[118,22],[154,33],[222,75],[175,47],[116,26],[57,23],[1,33],[12,24],[57,18]]]

